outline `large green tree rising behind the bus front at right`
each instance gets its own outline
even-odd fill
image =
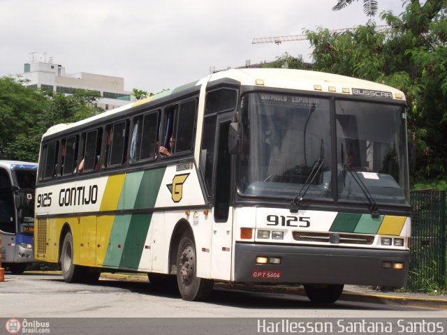
[[[347,6],[352,1],[339,1]],[[312,68],[396,87],[406,94],[409,138],[416,147],[413,182],[447,177],[447,1],[403,1],[400,15],[381,13],[354,31],[307,31]],[[279,63],[290,55],[279,57]],[[293,61],[287,60],[288,64]],[[300,68],[300,67],[297,67]]]

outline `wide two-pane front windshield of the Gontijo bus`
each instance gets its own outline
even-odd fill
[[[330,98],[298,94],[244,96],[238,191],[290,200],[306,186],[307,199],[365,202],[364,186],[378,203],[405,204],[404,107],[335,101],[334,129],[331,103]],[[317,162],[322,165],[313,176]],[[337,185],[332,185],[334,173]]]

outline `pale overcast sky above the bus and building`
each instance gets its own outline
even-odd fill
[[[332,11],[337,0],[0,0],[0,76],[29,61],[66,73],[124,77],[124,89],[158,93],[210,70],[273,61],[285,52],[310,61],[307,40],[252,44],[254,38],[303,34],[318,27],[365,24],[363,1]],[[402,13],[401,0],[379,12]],[[376,24],[383,24],[379,15]]]

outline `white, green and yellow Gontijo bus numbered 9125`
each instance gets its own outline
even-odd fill
[[[138,271],[176,277],[186,300],[218,281],[301,284],[318,302],[402,286],[405,97],[314,71],[214,73],[50,128],[36,200],[36,258],[67,282]]]

